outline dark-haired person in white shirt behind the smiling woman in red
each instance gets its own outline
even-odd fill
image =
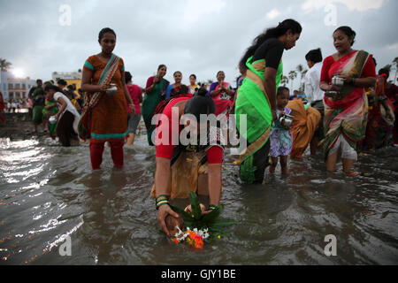
[[[307,65],[310,70],[305,74],[304,79],[304,92],[307,96],[307,101],[316,110],[321,113],[321,122],[318,129],[310,142],[311,155],[315,155],[318,149],[318,142],[324,138],[323,119],[325,116],[324,109],[324,95],[325,92],[319,88],[320,74],[322,71],[322,52],[318,50],[310,50],[305,56]]]

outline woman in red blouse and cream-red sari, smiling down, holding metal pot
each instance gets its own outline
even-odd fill
[[[320,88],[325,91],[325,159],[327,171],[334,172],[341,149],[343,172],[356,176],[356,143],[364,139],[368,118],[365,88],[376,83],[376,70],[371,54],[353,50],[356,33],[350,27],[339,27],[333,33],[337,53],[326,57]],[[334,77],[334,78],[333,78]],[[335,79],[338,78],[338,79]]]

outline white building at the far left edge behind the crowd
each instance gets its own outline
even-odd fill
[[[29,89],[36,86],[36,81],[29,77],[26,79],[16,78],[11,72],[1,71],[0,90],[4,100],[14,98],[27,98]]]

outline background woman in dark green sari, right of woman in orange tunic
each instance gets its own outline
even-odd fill
[[[155,125],[152,125],[152,118],[157,109],[157,105],[165,100],[165,92],[170,82],[165,80],[167,67],[159,65],[157,68],[157,75],[150,77],[147,80],[147,87],[145,88],[145,96],[142,102],[142,119],[147,128],[148,142],[153,146],[152,133],[155,130]]]

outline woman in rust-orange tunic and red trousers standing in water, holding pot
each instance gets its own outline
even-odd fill
[[[98,36],[101,53],[88,57],[83,67],[81,89],[88,93],[88,126],[90,158],[93,170],[101,169],[104,143],[111,144],[111,157],[117,168],[123,167],[123,145],[127,134],[128,102],[134,115],[134,104],[126,88],[123,59],[113,54],[116,34],[103,28]],[[111,92],[111,84],[117,90]],[[83,114],[85,115],[84,111]]]

